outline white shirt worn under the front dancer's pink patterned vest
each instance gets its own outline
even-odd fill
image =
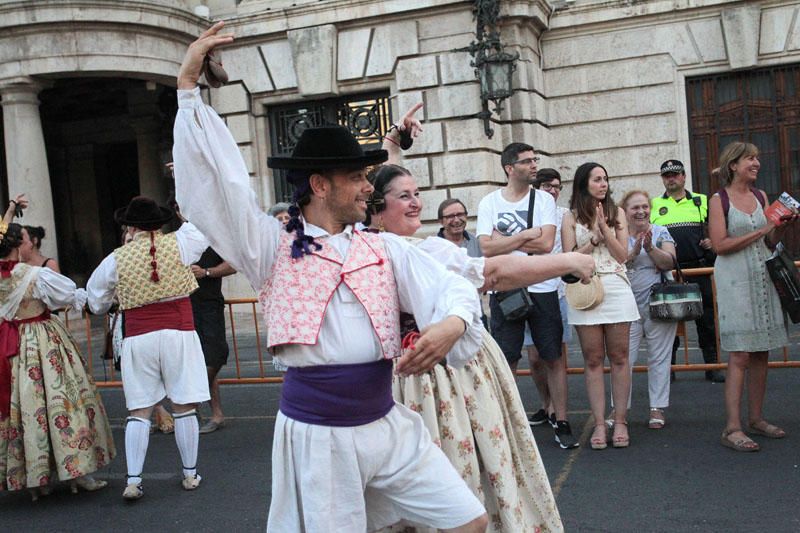
[[[290,259],[277,257],[285,229],[259,208],[239,147],[222,119],[203,103],[200,90],[178,91],[178,104],[173,159],[181,212],[247,277],[253,289],[260,291],[273,263]],[[305,222],[305,233],[326,239],[345,257],[352,226],[329,235]],[[394,270],[401,311],[414,314],[421,329],[451,315],[463,319],[467,332],[448,354],[448,362],[461,366],[472,359],[482,330],[474,288],[401,237],[382,234],[381,238]],[[366,310],[344,284],[328,304],[317,344],[276,348],[278,362],[286,366],[365,363],[380,359],[381,354]]]

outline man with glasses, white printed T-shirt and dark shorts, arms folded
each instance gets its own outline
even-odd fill
[[[500,155],[508,184],[484,197],[478,206],[478,241],[486,257],[507,254],[549,254],[555,244],[556,202],[541,190],[532,189],[539,158],[533,147],[511,143]],[[531,197],[533,195],[533,197]],[[528,209],[533,200],[531,224]],[[558,304],[558,278],[528,287],[532,305],[527,316],[508,320],[503,316],[496,294],[489,297],[492,335],[503,350],[511,369],[522,359],[525,325],[544,362],[547,387],[555,409],[555,440],[563,449],[575,448],[578,441],[567,422],[567,369],[561,359],[564,328]]]

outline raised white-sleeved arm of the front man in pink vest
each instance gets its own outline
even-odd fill
[[[200,98],[197,79],[205,54],[232,40],[222,23],[192,43],[178,76],[173,159],[175,196],[183,215],[211,246],[260,289],[274,261],[282,225],[263,213],[250,174],[225,123]]]

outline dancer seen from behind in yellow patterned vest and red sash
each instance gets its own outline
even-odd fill
[[[189,265],[208,248],[192,224],[163,234],[175,213],[144,196],[118,209],[114,218],[133,240],[108,255],[86,285],[89,307],[103,314],[119,299],[123,317],[122,387],[128,478],[126,500],[144,495],[142,469],[150,438],[150,415],[165,396],[172,400],[175,442],[183,461],[183,488],[200,485],[196,407],[209,399],[205,360],[194,329],[189,295],[197,289]]]

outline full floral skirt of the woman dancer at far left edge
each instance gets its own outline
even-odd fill
[[[57,318],[22,324],[11,412],[0,421],[0,487],[91,474],[116,455],[108,417],[75,341]]]

